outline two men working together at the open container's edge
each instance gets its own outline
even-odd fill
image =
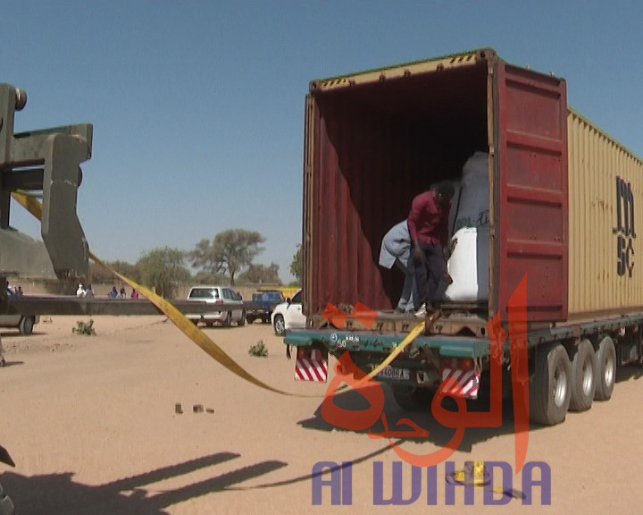
[[[448,220],[455,188],[439,182],[413,198],[408,217],[394,225],[381,241],[380,266],[394,265],[405,274],[399,313],[425,317],[432,312],[440,280],[447,283],[447,261],[452,251],[448,241]]]

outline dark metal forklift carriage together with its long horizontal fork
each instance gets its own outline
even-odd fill
[[[27,95],[0,84],[0,313],[22,315],[159,315],[148,300],[127,302],[76,297],[11,297],[6,277],[84,282],[89,248],[76,213],[82,170],[92,153],[93,125],[81,123],[15,133],[14,115]],[[36,241],[10,225],[12,192],[42,196],[41,235]],[[183,313],[215,310],[205,302],[173,302]],[[245,302],[246,309],[258,308]],[[216,310],[236,308],[217,305]]]

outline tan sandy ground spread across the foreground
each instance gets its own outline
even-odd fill
[[[0,464],[0,482],[23,515],[643,510],[641,367],[620,373],[611,401],[569,414],[560,426],[530,431],[527,460],[550,467],[551,505],[541,505],[538,486],[532,506],[519,499],[485,505],[480,488],[473,492],[475,506],[468,506],[463,487],[455,489],[454,505],[447,505],[447,465],[441,464],[437,505],[427,505],[434,484],[427,469],[420,469],[414,502],[380,506],[374,505],[378,463],[383,463],[384,499],[391,498],[393,467],[402,471],[396,476],[401,499],[411,498],[411,466],[386,440],[327,424],[320,404],[328,384],[295,382],[294,363],[270,326],[205,331],[264,382],[319,397],[288,397],[246,383],[164,317],[95,317],[93,337],[71,333],[77,319],[53,317],[29,337],[2,333],[9,367],[0,369],[0,443],[16,467]],[[248,355],[259,340],[269,349],[267,358]],[[385,392],[388,419],[397,420],[404,413]],[[364,407],[355,392],[339,394],[337,402],[347,409]],[[177,403],[181,414],[175,412]],[[204,411],[194,413],[195,404]],[[429,413],[413,420],[430,435],[402,443],[408,452],[437,451],[453,434]],[[448,460],[457,469],[464,460],[505,460],[514,466],[512,427],[511,413],[505,413],[499,428],[467,429]],[[351,505],[332,505],[330,486],[322,489],[321,506],[313,505],[311,474],[323,460],[352,461],[344,472],[352,486]],[[522,476],[512,477],[513,486],[525,494]],[[538,471],[534,477],[539,478]],[[494,482],[500,484],[499,478]]]

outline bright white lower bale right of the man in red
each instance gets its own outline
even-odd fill
[[[489,299],[489,225],[463,227],[454,234],[455,249],[447,263],[453,283],[445,297],[454,302]]]

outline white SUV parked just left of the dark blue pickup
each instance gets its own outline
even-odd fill
[[[237,291],[228,286],[193,286],[188,292],[188,300],[198,300],[213,304],[213,311],[203,314],[187,313],[188,317],[195,325],[204,322],[211,327],[213,324],[221,324],[224,327],[230,327],[232,322],[238,326],[246,324],[246,310],[244,309],[243,300]],[[233,308],[216,309],[217,304],[232,304]]]

